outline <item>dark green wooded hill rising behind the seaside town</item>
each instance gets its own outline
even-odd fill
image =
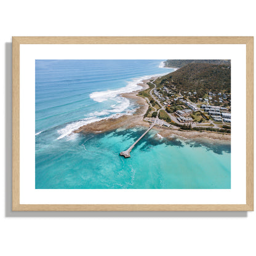
[[[231,92],[230,65],[191,63],[156,81],[158,86],[175,88],[177,92],[196,92],[196,99],[208,92]]]

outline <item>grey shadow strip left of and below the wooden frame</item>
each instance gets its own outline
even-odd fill
[[[5,217],[247,217],[247,212],[12,212],[12,43],[5,43],[6,86],[6,190]]]

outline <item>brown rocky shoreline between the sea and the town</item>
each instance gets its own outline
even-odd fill
[[[162,75],[161,75],[162,76]],[[159,78],[160,76],[155,75],[151,78],[145,79],[142,82],[138,83],[139,86],[142,86],[142,89],[135,90],[134,92],[127,92],[120,94],[121,97],[128,98],[128,100],[135,100],[138,104],[138,108],[134,114],[128,115],[124,114],[122,116],[117,116],[116,118],[106,118],[97,122],[92,122],[84,126],[79,127],[74,130],[73,133],[78,134],[98,134],[103,132],[109,132],[111,130],[116,130],[119,128],[130,129],[133,127],[143,126],[150,127],[150,123],[143,121],[144,114],[148,110],[148,102],[145,98],[138,96],[138,92],[146,90],[149,88],[147,82],[152,79]],[[189,131],[189,130],[178,130],[170,129],[162,126],[153,127],[154,130],[158,130],[159,135],[166,138],[180,137],[183,139],[207,139],[213,142],[231,142],[231,134],[221,134],[218,132],[210,131]]]

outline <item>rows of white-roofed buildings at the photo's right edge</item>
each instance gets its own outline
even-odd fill
[[[231,113],[226,113],[227,108],[222,106],[202,105],[201,108],[216,122],[231,122]]]

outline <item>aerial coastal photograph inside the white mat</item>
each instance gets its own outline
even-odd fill
[[[36,189],[231,189],[231,60],[35,60]]]

